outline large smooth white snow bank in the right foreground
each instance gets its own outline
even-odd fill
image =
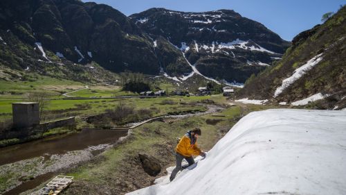
[[[345,111],[252,112],[197,167],[129,194],[343,195],[345,160]]]

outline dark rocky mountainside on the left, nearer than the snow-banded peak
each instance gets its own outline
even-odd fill
[[[37,60],[81,64],[93,60],[113,71],[158,74],[160,70],[152,42],[138,26],[102,4],[4,0],[0,2],[0,36],[1,51],[5,51],[1,64],[17,69],[30,68],[31,61]]]

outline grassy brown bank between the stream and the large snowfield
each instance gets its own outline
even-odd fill
[[[152,185],[155,178],[166,174],[165,168],[174,166],[176,137],[196,126],[202,129],[199,146],[208,151],[228,130],[248,112],[264,110],[264,105],[242,105],[226,108],[219,115],[188,118],[165,118],[143,124],[131,131],[121,145],[105,151],[98,158],[64,173],[75,177],[75,183],[64,194],[125,194]],[[158,159],[163,169],[158,176],[145,173],[139,153]]]

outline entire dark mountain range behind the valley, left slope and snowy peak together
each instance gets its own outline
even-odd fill
[[[0,37],[0,66],[17,71],[49,75],[96,62],[111,71],[163,74],[176,81],[199,74],[238,83],[289,46],[233,10],[152,8],[126,17],[110,6],[79,0],[0,1]]]

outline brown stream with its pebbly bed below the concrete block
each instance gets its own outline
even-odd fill
[[[53,167],[57,168],[53,168],[52,170],[48,171],[42,170],[42,173],[38,173],[38,176],[35,176],[33,180],[28,180],[25,183],[21,183],[17,187],[5,192],[4,195],[19,194],[21,192],[26,192],[28,189],[33,189],[37,187],[37,185],[40,185],[49,178],[55,176],[57,174],[55,171],[60,169],[58,167],[69,167],[71,164],[69,161],[78,163],[88,160],[90,155],[98,154],[100,151],[104,150],[106,146],[118,141],[120,137],[124,137],[126,135],[126,131],[101,129],[82,130],[80,133],[48,137],[46,139],[40,139],[34,142],[27,142],[24,144],[17,144],[15,146],[2,148],[0,149],[0,172],[6,171],[6,169],[8,169],[6,166],[12,163],[15,164],[37,157],[43,157],[44,160],[42,163],[45,163],[45,161],[49,160],[51,156],[56,158],[56,155],[60,155],[62,157],[62,160],[58,159],[54,162],[55,164]],[[70,151],[82,151],[82,153],[68,155]],[[21,165],[19,165],[19,167],[21,167]],[[37,169],[41,168],[42,167]]]

